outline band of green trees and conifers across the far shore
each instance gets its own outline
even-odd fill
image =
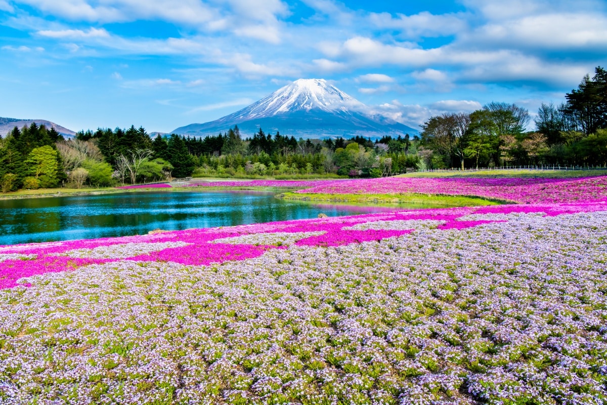
[[[239,128],[202,137],[157,135],[144,128],[80,131],[65,140],[33,123],[0,139],[2,192],[80,188],[204,177],[381,177],[429,168],[607,164],[607,72],[595,69],[560,106],[541,104],[535,131],[516,104],[492,102],[472,113],[431,117],[421,137],[296,140]]]

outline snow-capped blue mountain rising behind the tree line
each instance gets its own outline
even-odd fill
[[[243,137],[262,128],[296,138],[381,138],[419,134],[418,129],[374,114],[370,107],[323,79],[299,79],[262,100],[219,120],[189,124],[172,134],[195,137],[217,135],[238,125]]]

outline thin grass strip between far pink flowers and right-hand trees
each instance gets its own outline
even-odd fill
[[[533,170],[533,169],[508,169],[508,170],[465,170],[465,171],[436,171],[436,172],[414,172],[399,174],[395,177],[541,177],[544,179],[574,179],[575,177],[590,177],[607,175],[605,170]]]

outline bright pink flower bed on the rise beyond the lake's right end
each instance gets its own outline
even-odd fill
[[[607,176],[577,179],[489,179],[444,178],[415,179],[384,177],[348,182],[331,182],[302,189],[300,193],[320,194],[448,194],[478,196],[519,203],[574,202],[607,200]]]

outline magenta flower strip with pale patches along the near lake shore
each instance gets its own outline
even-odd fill
[[[251,245],[246,243],[217,243],[217,239],[239,237],[260,233],[312,233],[298,239],[295,245],[335,247],[350,243],[400,237],[411,233],[411,229],[361,229],[365,223],[432,221],[439,223],[439,230],[462,230],[484,223],[504,222],[513,213],[541,213],[544,216],[574,214],[593,211],[607,211],[605,202],[543,203],[527,205],[502,205],[448,209],[422,209],[418,211],[395,211],[390,213],[364,214],[350,217],[330,217],[310,220],[240,225],[228,228],[209,228],[186,231],[172,231],[160,234],[103,238],[94,240],[72,240],[67,242],[31,243],[27,245],[0,246],[0,289],[18,285],[19,279],[35,274],[51,273],[90,264],[103,264],[130,260],[138,262],[174,262],[182,265],[208,265],[228,260],[245,260],[261,256],[270,249],[285,248],[280,245]],[[475,214],[495,214],[497,219],[469,220]],[[354,228],[353,228],[354,227]],[[389,226],[384,226],[390,228]],[[165,242],[180,243],[177,247],[162,248]],[[158,251],[141,254],[142,244],[152,243]],[[129,256],[129,244],[133,247]],[[115,246],[120,257],[87,258],[83,250]],[[73,257],[70,257],[70,252]],[[18,256],[16,256],[18,255]],[[4,260],[1,260],[2,257]]]

